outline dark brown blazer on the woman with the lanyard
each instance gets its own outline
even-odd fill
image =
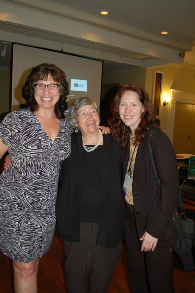
[[[148,126],[151,131],[158,130]],[[177,234],[173,227],[172,215],[177,205],[179,173],[173,146],[162,131],[152,135],[150,143],[160,187],[155,178],[149,153],[149,135],[139,145],[133,173],[133,201],[138,237],[144,231],[158,238],[158,246],[176,244]],[[123,181],[129,160],[130,144],[122,151]],[[125,217],[125,199],[122,197],[122,219]]]

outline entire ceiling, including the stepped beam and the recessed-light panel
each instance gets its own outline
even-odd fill
[[[10,16],[9,13],[0,13],[0,31],[63,43],[67,45],[64,48],[65,52],[68,52],[66,49],[68,45],[75,48],[79,46],[83,48],[79,51],[81,56],[94,58],[94,51],[101,52],[96,54],[95,58],[107,61],[104,65],[104,75],[177,62],[184,64],[184,60],[179,58],[179,52],[185,53],[185,63],[195,67],[195,47],[193,47],[195,44],[195,0],[185,0],[185,2],[183,0],[120,0],[120,2],[118,0],[0,0],[0,3],[8,4],[8,11],[10,11]],[[13,7],[26,9],[26,15],[30,10],[32,16],[33,13],[35,15],[35,12],[39,12],[43,15],[58,17],[59,21],[61,19],[74,21],[75,25],[86,26],[88,35],[73,36],[72,27],[64,27],[64,31],[60,26],[56,29],[52,27],[50,29],[43,27],[43,29],[40,28],[41,26],[37,28],[39,19],[34,20],[31,26],[27,25],[30,20],[29,23],[22,22],[19,15],[11,14]],[[108,10],[109,13],[104,16],[100,14],[100,10]],[[25,16],[23,19],[25,20]],[[79,28],[77,26],[77,29]],[[102,35],[98,35],[96,29],[101,29]],[[163,30],[169,33],[161,35],[160,31]],[[103,40],[103,34],[105,33],[105,38],[108,38],[108,32],[110,35],[115,34],[116,38],[119,37],[118,44]],[[126,44],[126,37],[130,39],[130,45]],[[8,37],[7,40],[12,41]],[[1,39],[2,42],[7,40]],[[121,43],[125,40],[123,45],[120,45],[120,40]],[[146,47],[148,44],[149,49],[145,47],[142,49],[140,45],[142,43]],[[29,44],[33,45],[33,42]],[[0,50],[3,46],[4,44],[0,43]],[[159,54],[155,52],[156,48]],[[7,57],[0,56],[0,66],[7,67],[10,63],[8,59],[10,50],[11,45],[8,46]],[[176,58],[172,57],[172,50],[174,54],[177,52]],[[168,58],[169,54],[171,57]]]

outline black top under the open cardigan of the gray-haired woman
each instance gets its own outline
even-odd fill
[[[103,145],[98,146],[91,152],[84,150],[85,177],[80,206],[80,221],[84,223],[100,222],[102,208],[102,155]]]

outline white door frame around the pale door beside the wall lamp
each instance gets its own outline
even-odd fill
[[[193,104],[195,105],[195,92],[188,92],[178,89],[170,89],[170,103],[167,117],[167,136],[173,144],[174,119],[176,103]]]

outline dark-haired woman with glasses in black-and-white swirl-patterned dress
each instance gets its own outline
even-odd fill
[[[13,261],[15,293],[36,293],[39,259],[50,248],[61,162],[71,150],[68,83],[56,65],[41,64],[22,88],[26,104],[0,124],[0,251]]]

